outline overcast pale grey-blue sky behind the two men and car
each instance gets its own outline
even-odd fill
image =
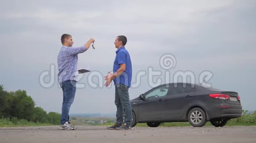
[[[133,82],[149,67],[165,72],[159,59],[169,53],[176,58],[170,81],[176,71],[193,72],[196,82],[210,71],[213,87],[238,92],[243,109],[256,110],[255,0],[6,0],[0,13],[0,85],[26,90],[47,112],[61,112],[56,63],[64,33],[72,35],[73,46],[95,39],[95,50],[79,54],[78,68],[111,71],[114,40],[124,35]],[[44,88],[39,75],[50,64],[56,65],[55,82]],[[79,81],[86,87],[77,89],[70,113],[115,113],[114,87],[92,88],[88,75]],[[139,87],[129,89],[130,99],[149,89],[144,76]]]

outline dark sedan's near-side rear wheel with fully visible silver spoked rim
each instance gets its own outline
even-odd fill
[[[206,124],[206,114],[203,109],[196,107],[192,108],[188,113],[188,122],[193,127],[202,127]]]

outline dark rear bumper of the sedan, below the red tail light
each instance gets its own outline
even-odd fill
[[[209,120],[212,118],[238,118],[242,116],[241,105],[227,105],[227,107],[215,107],[211,111],[207,111]]]

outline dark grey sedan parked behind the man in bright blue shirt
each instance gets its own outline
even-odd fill
[[[205,88],[200,84],[161,85],[130,102],[132,127],[137,123],[158,127],[162,122],[189,122],[194,127],[202,127],[207,121],[222,127],[242,114],[238,93]]]

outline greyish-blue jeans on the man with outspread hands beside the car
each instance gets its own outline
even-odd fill
[[[115,104],[117,105],[117,124],[132,124],[132,106],[130,104],[128,86],[116,85]],[[124,117],[125,114],[125,117]]]

